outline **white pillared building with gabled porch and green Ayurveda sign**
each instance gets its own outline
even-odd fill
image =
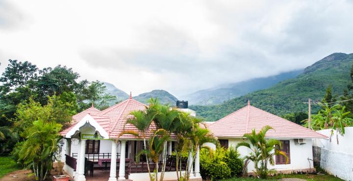
[[[130,95],[126,101],[103,111],[92,106],[73,116],[74,123],[61,132],[65,138],[61,152],[61,159],[65,161],[64,171],[75,181],[149,180],[146,159],[140,157],[136,160],[135,158],[135,155],[143,149],[142,139],[132,135],[119,136],[124,130],[138,132],[133,125],[126,124],[126,120],[132,116],[131,111],[145,110],[146,107],[145,104],[132,99]],[[153,125],[150,128],[152,130]],[[177,178],[174,158],[171,156],[172,147],[173,143],[170,141],[164,180]],[[196,157],[195,166],[189,169],[190,178],[201,181],[199,155],[197,154]],[[89,162],[85,159],[92,161],[94,167],[101,167],[100,170],[95,169],[93,177],[89,174],[85,176],[85,162]],[[182,164],[182,166],[185,168],[186,165]],[[153,171],[154,164],[150,164],[150,168]],[[101,171],[104,169],[105,172]],[[160,173],[158,176],[160,177]]]

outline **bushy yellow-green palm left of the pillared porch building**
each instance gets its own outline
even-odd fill
[[[32,169],[36,180],[44,181],[52,167],[52,158],[59,149],[61,125],[43,120],[33,121],[25,130],[25,142],[18,152],[19,162]]]

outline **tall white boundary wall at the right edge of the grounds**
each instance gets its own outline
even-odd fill
[[[330,136],[331,130],[317,131],[325,136]],[[353,127],[345,128],[345,135],[338,135],[339,144],[337,144],[337,133],[331,141],[325,139],[315,139],[314,146],[321,147],[320,167],[328,173],[337,176],[346,181],[353,181]]]

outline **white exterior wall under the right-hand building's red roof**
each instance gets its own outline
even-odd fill
[[[228,139],[228,145],[235,146],[243,141],[242,138],[220,138],[220,139]],[[290,143],[290,158],[291,161],[289,164],[279,164],[279,165],[269,165],[269,169],[275,168],[277,171],[305,171],[306,169],[312,169],[313,168],[313,162],[312,162],[312,142],[311,139],[306,139],[306,144],[300,145],[300,144],[295,144],[294,139],[278,139],[278,140],[289,140]],[[210,146],[212,148],[216,148],[216,146],[212,143],[206,143],[207,146]],[[238,148],[238,151],[241,155],[241,157],[245,157],[249,155],[251,150],[247,147],[241,146]],[[309,159],[308,159],[309,158]],[[253,163],[249,163],[248,165],[248,172],[251,173],[252,170],[254,170],[254,165]]]

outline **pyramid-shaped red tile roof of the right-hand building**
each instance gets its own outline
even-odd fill
[[[286,138],[326,138],[327,136],[316,133],[301,125],[267,113],[263,110],[248,105],[226,117],[208,125],[208,129],[217,137],[242,137],[251,133],[252,129],[260,131],[269,125],[274,130],[269,130],[266,137]]]

